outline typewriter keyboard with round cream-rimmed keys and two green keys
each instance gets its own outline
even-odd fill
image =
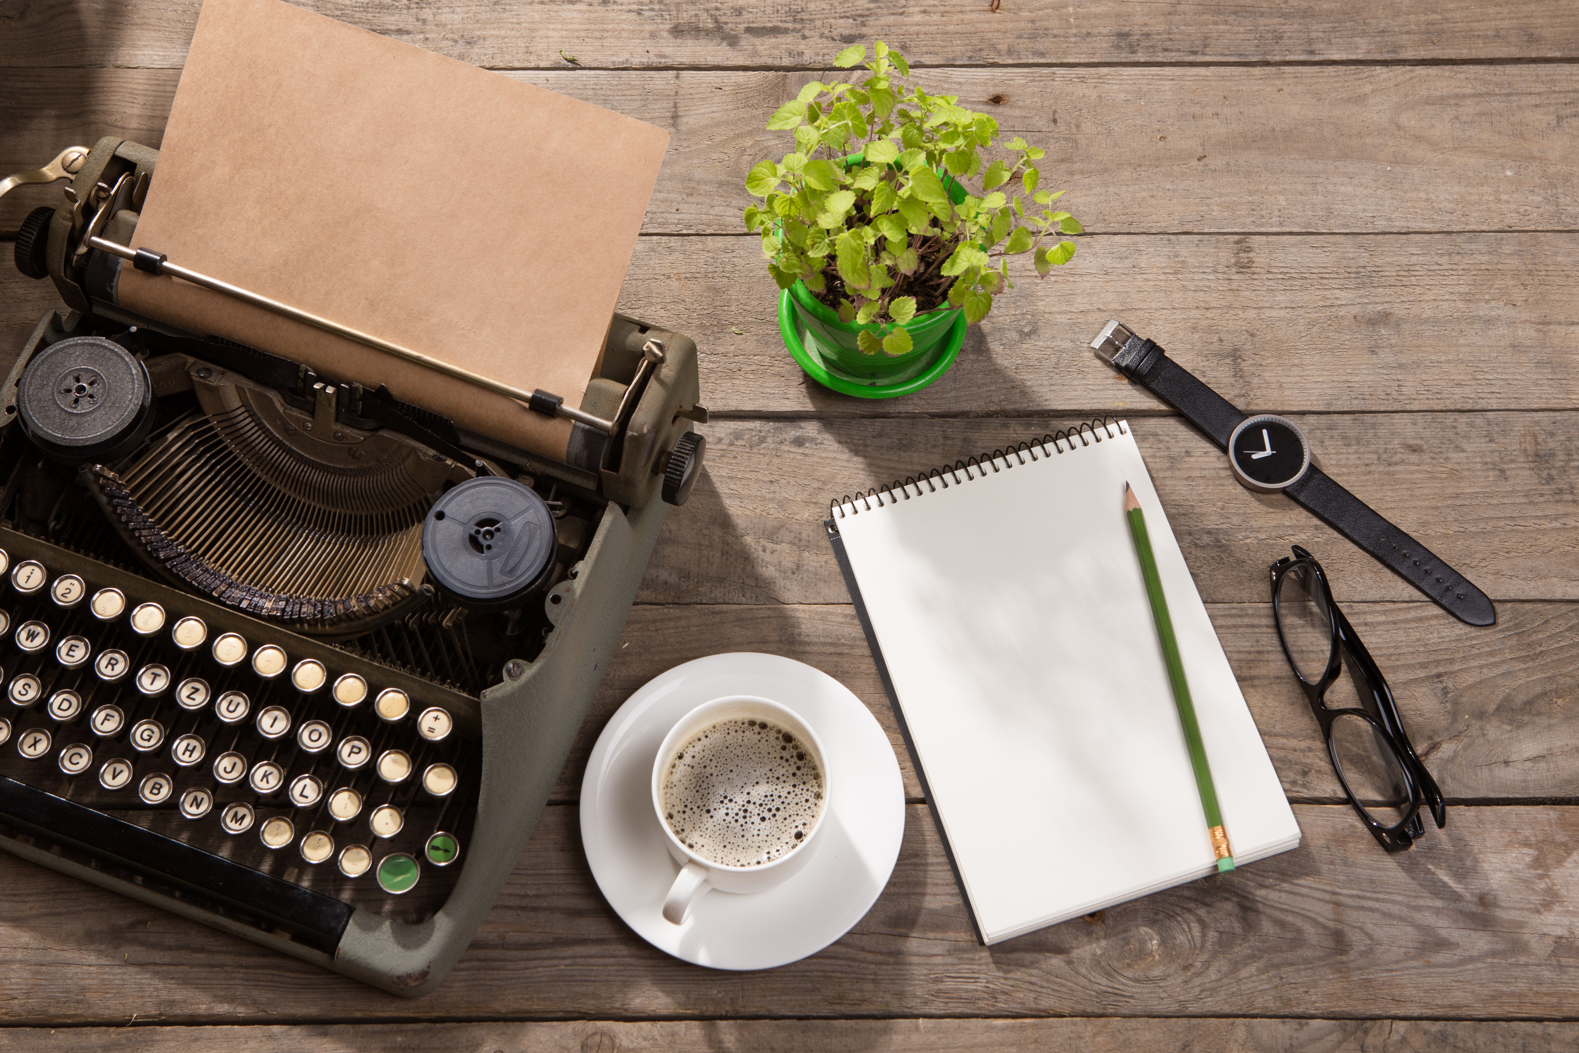
[[[332,946],[466,854],[475,699],[0,530],[0,826]]]

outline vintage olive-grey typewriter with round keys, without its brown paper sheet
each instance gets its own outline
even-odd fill
[[[696,478],[696,347],[616,316],[578,407],[505,388],[576,422],[565,459],[512,447],[118,306],[122,267],[224,286],[139,251],[156,164],[103,139],[0,183],[71,178],[13,232],[65,306],[0,395],[0,848],[420,995]]]

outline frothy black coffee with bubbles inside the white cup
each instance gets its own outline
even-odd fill
[[[801,739],[733,718],[684,742],[663,774],[663,816],[685,848],[725,867],[783,859],[823,815],[824,780]]]

